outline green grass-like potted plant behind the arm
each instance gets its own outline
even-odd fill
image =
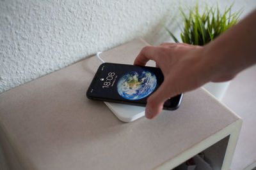
[[[218,4],[215,8],[214,6],[209,8],[206,4],[202,14],[199,13],[198,4],[192,8],[186,8],[189,10],[189,15],[185,15],[184,10],[180,8],[184,22],[184,28],[180,29],[180,37],[183,43],[205,45],[232,27],[232,25],[235,25],[239,21],[242,10],[232,13],[231,8],[233,4],[229,8],[225,8],[223,13],[220,12]],[[172,36],[173,40],[179,43],[173,33],[162,22],[161,24]]]

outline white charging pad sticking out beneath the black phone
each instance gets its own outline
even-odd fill
[[[145,107],[109,102],[104,103],[122,122],[132,122],[138,118],[145,116]]]

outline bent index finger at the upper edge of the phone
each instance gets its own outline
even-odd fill
[[[145,46],[134,60],[134,65],[145,66],[148,60],[156,61],[157,46]]]

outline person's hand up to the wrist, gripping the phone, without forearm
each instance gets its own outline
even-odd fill
[[[164,75],[159,89],[147,99],[147,118],[156,117],[168,98],[196,89],[211,80],[209,67],[204,65],[201,53],[201,46],[184,43],[162,43],[160,46],[145,46],[141,50],[134,65],[145,66],[148,60],[154,60]]]

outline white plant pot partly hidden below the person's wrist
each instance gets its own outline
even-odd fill
[[[213,96],[215,96],[219,101],[223,98],[225,92],[228,89],[230,81],[225,81],[221,83],[206,83],[203,87],[208,92],[210,92]]]

